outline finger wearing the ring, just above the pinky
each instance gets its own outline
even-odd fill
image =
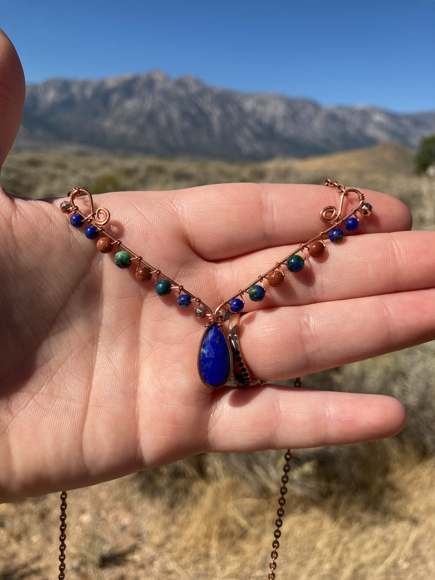
[[[259,310],[242,316],[251,375],[284,380],[435,338],[435,289]]]

